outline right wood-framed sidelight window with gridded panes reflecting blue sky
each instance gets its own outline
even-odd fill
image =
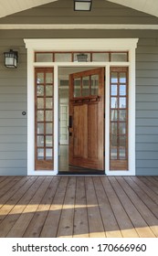
[[[111,169],[127,169],[128,161],[128,73],[127,68],[111,68]],[[123,166],[124,165],[124,166]]]

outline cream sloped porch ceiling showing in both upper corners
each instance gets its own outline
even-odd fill
[[[58,0],[0,0],[0,17],[9,16],[37,5],[46,5]],[[73,0],[71,0],[73,1]],[[125,5],[144,13],[158,16],[158,0],[105,0],[119,5]]]

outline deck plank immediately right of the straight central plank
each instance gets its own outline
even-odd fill
[[[85,177],[86,184],[86,197],[87,197],[87,207],[88,207],[88,219],[89,219],[89,229],[90,238],[102,237],[105,238],[105,230],[103,227],[100,208],[98,205],[98,200],[95,193],[95,187],[93,185],[92,177]]]

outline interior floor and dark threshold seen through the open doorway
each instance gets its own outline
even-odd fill
[[[58,168],[59,175],[64,175],[64,174],[65,175],[71,175],[71,174],[105,175],[104,171],[68,165],[68,144],[59,145],[58,166],[59,166]]]

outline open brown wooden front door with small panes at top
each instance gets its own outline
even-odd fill
[[[104,169],[104,75],[104,68],[69,75],[69,165]]]

